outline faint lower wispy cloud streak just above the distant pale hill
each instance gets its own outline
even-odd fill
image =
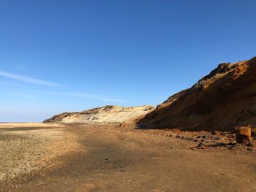
[[[75,96],[75,97],[82,97],[87,99],[97,99],[100,101],[111,101],[111,102],[124,102],[121,99],[108,99],[102,96],[96,96],[87,93],[69,93],[69,92],[59,92],[59,91],[33,91],[37,93],[48,93],[48,94],[55,94],[55,95],[62,95],[62,96]]]

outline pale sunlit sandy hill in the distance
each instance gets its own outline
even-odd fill
[[[132,123],[154,108],[150,105],[140,107],[107,105],[82,112],[64,112],[43,123]]]

